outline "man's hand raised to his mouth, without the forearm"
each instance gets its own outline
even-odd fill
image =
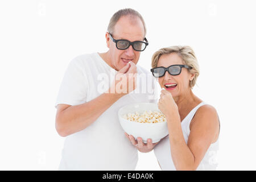
[[[137,68],[133,62],[129,62],[115,75],[115,80],[109,89],[109,93],[128,94],[136,89]]]

